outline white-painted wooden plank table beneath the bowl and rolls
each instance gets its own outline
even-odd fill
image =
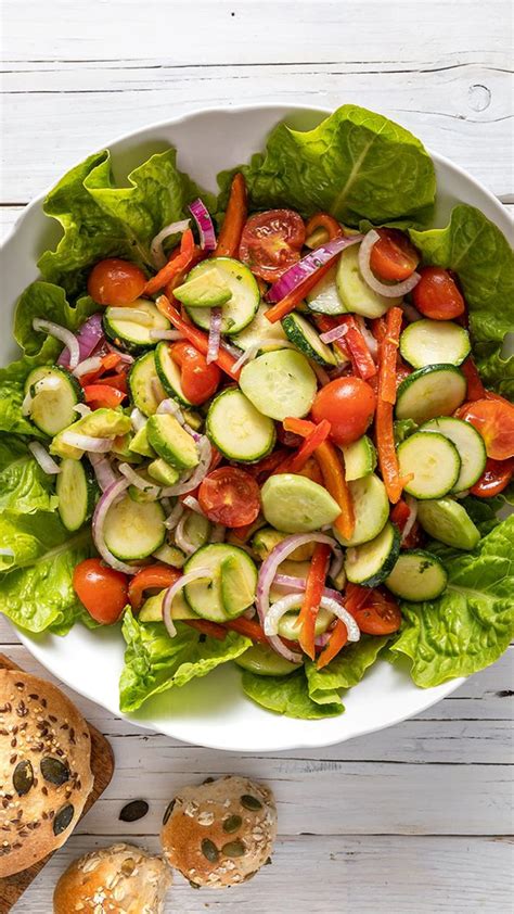
[[[2,226],[118,134],[242,101],[375,109],[513,204],[510,28],[506,0],[4,0]],[[42,672],[4,622],[0,650]],[[226,772],[273,787],[273,864],[224,893],[177,879],[167,912],[510,911],[513,657],[420,718],[323,751],[197,749],[75,696],[111,739],[116,774],[16,914],[49,914],[57,875],[85,850],[120,837],[156,849],[174,790]],[[137,797],[150,813],[120,823]]]

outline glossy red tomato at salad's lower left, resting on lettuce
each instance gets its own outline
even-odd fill
[[[79,562],[73,573],[73,586],[92,619],[103,625],[117,622],[128,602],[128,576],[100,559]]]

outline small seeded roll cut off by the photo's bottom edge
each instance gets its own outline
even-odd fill
[[[75,860],[53,894],[53,914],[162,914],[171,873],[160,856],[113,845]]]

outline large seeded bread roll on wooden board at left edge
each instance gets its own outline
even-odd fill
[[[93,778],[82,715],[50,683],[0,670],[0,877],[64,845]]]

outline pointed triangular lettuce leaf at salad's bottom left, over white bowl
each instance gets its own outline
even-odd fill
[[[221,642],[181,622],[177,623],[176,637],[170,638],[163,622],[141,624],[130,608],[125,612],[123,633],[127,649],[119,680],[121,711],[136,711],[152,695],[206,676],[252,645],[249,638],[235,632],[229,632]]]

